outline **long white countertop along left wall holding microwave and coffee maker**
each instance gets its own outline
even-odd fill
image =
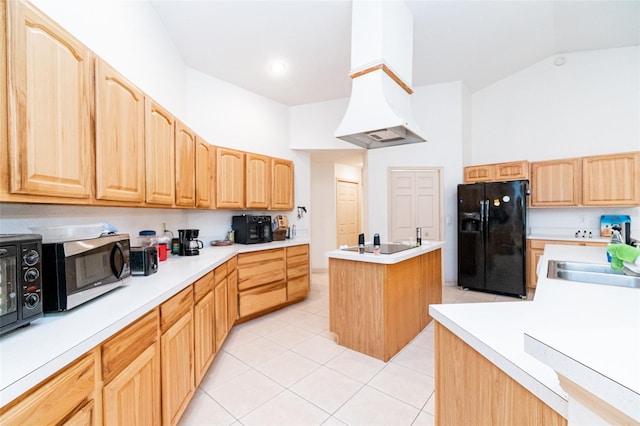
[[[45,314],[29,326],[0,337],[0,406],[40,383],[80,355],[192,284],[237,253],[300,244],[272,243],[205,246],[199,256],[170,256],[158,272],[136,276],[128,285],[72,310]]]

